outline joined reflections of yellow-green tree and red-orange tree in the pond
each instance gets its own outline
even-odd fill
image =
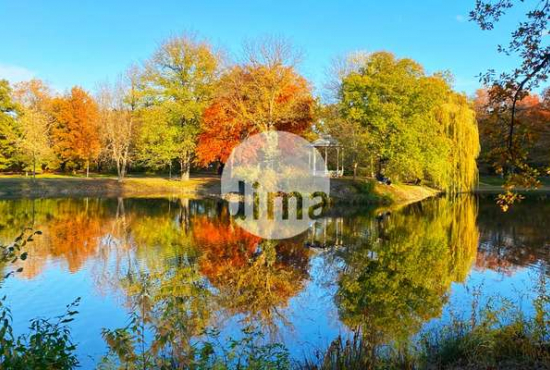
[[[197,204],[172,204],[158,218],[133,216],[134,270],[119,279],[153,333],[152,348],[182,361],[191,339],[221,315],[273,328],[307,275],[307,251],[298,244],[266,243],[234,225],[224,206]]]

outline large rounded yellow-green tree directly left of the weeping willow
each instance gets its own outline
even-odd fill
[[[344,120],[360,124],[371,172],[404,180],[423,178],[420,132],[412,126],[412,118],[429,109],[413,101],[422,73],[410,59],[375,53],[342,76],[340,111]]]

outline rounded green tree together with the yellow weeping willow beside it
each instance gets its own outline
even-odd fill
[[[340,119],[356,124],[360,166],[394,181],[427,183],[448,193],[469,191],[477,179],[479,138],[465,96],[451,76],[427,75],[411,59],[365,54],[341,73]],[[342,142],[346,134],[329,131]]]

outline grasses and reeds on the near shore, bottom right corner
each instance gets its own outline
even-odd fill
[[[533,301],[535,315],[490,299],[480,307],[474,293],[473,313],[421,334],[413,343],[380,344],[367,331],[347,340],[338,337],[304,369],[546,369],[550,367],[550,296],[541,277]]]

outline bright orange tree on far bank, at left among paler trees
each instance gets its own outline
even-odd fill
[[[55,98],[52,105],[54,150],[66,168],[82,165],[88,177],[90,162],[101,150],[97,103],[86,91],[73,87],[68,95]]]

